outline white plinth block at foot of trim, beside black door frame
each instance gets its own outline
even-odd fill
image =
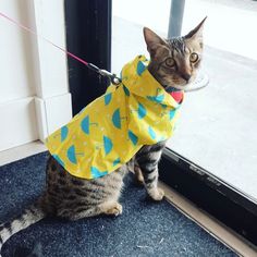
[[[72,119],[71,94],[50,98],[35,98],[38,137],[41,142]]]

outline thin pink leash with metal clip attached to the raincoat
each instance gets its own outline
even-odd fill
[[[73,54],[72,52],[69,52],[68,50],[65,50],[64,48],[62,47],[59,47],[58,45],[56,45],[54,42],[50,41],[49,39],[47,39],[46,37],[35,33],[32,28],[23,25],[22,23],[7,16],[5,14],[1,13],[0,12],[0,16],[4,17],[5,20],[8,20],[9,22],[13,23],[14,25],[23,28],[24,30],[26,32],[29,32],[30,34],[35,35],[36,37],[39,37],[41,39],[44,39],[45,41],[47,41],[48,44],[52,45],[53,47],[58,48],[59,50],[61,50],[62,52],[64,52],[66,56],[77,60],[78,62],[83,63],[84,65],[86,65],[87,68],[89,68],[90,70],[99,73],[100,75],[102,76],[107,76],[111,79],[111,82],[115,85],[120,84],[121,79],[119,77],[115,76],[115,74],[112,74],[106,70],[101,70],[99,69],[98,66],[94,65],[93,63],[88,63],[86,62],[85,60],[81,59],[79,57]]]

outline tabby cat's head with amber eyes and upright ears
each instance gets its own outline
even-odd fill
[[[163,87],[185,89],[195,79],[201,61],[205,20],[186,36],[171,39],[163,39],[144,28],[151,59],[148,70]]]

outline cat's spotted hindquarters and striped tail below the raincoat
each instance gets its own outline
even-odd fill
[[[53,157],[49,157],[46,172],[46,191],[13,221],[0,225],[0,248],[13,234],[26,229],[46,216],[68,220],[106,215],[121,215],[118,203],[127,169],[122,167],[97,180],[82,180],[66,172]]]

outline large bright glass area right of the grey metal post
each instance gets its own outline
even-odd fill
[[[242,4],[244,2],[244,4]],[[257,201],[257,2],[185,2],[182,34],[205,24],[204,90],[186,95],[168,146]]]

